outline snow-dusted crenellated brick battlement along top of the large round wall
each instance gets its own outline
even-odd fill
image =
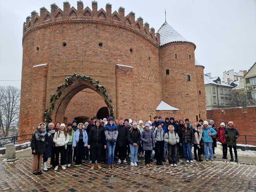
[[[98,3],[92,1],[92,9],[88,6],[84,8],[82,1],[77,1],[77,8],[70,6],[68,1],[63,2],[63,10],[55,3],[51,4],[51,10],[45,7],[40,8],[40,13],[35,10],[31,12],[31,16],[26,18],[23,24],[23,36],[26,36],[32,29],[40,28],[47,24],[58,22],[102,22],[106,25],[124,26],[135,30],[142,34],[154,44],[159,45],[160,36],[155,34],[154,28],[149,28],[147,22],[143,23],[143,18],[139,17],[135,20],[135,13],[130,12],[125,16],[125,9],[121,6],[118,11],[112,12],[112,4],[107,3],[105,10],[98,9]]]

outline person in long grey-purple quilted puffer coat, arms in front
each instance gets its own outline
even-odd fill
[[[149,124],[145,124],[145,129],[142,131],[141,137],[143,150],[145,150],[145,165],[151,167],[150,152],[155,146],[154,136],[152,130],[149,129]]]

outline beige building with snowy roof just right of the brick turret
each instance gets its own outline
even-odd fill
[[[232,86],[221,82],[220,77],[211,77],[211,73],[204,75],[206,109],[230,107]]]

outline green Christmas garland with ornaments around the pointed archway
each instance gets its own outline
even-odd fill
[[[77,80],[84,80],[85,82],[92,84],[96,88],[97,92],[102,93],[102,95],[104,96],[105,103],[110,110],[110,116],[112,116],[114,118],[114,108],[111,104],[112,100],[111,100],[110,96],[108,95],[106,88],[103,85],[100,85],[100,81],[94,80],[90,76],[74,73],[71,76],[66,77],[64,83],[60,84],[57,87],[56,92],[54,94],[52,94],[52,96],[50,98],[50,108],[46,109],[44,111],[44,120],[46,122],[52,121],[51,114],[52,114],[52,111],[55,109],[54,102],[56,100],[58,100],[60,98],[60,96],[62,96],[62,91],[65,90],[66,87],[70,86],[73,82],[75,82]]]

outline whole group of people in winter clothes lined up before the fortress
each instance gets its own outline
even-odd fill
[[[137,166],[138,156],[145,158],[145,165],[152,166],[153,150],[157,165],[163,165],[165,153],[168,153],[170,166],[177,166],[179,158],[185,158],[187,163],[192,163],[192,146],[194,146],[194,159],[203,161],[214,160],[214,148],[217,140],[222,144],[223,157],[227,159],[227,147],[230,150],[230,161],[234,161],[232,148],[234,149],[235,161],[238,162],[236,151],[236,139],[239,137],[238,130],[234,128],[232,121],[228,126],[222,122],[216,128],[214,121],[199,120],[195,128],[189,119],[175,121],[173,117],[165,121],[159,116],[154,117],[154,122],[147,121],[144,125],[142,120],[132,122],[131,119],[122,118],[116,122],[112,117],[98,120],[94,117],[90,123],[78,123],[74,120],[65,124],[50,122],[38,125],[38,129],[32,136],[31,148],[33,158],[32,173],[42,174],[48,171],[48,158],[54,170],[58,170],[59,157],[63,170],[70,167],[72,160],[75,166],[82,166],[82,160],[90,159],[91,168],[94,170],[95,163],[98,169],[102,169],[101,162],[107,158],[108,168],[114,168],[114,158],[118,156],[118,162],[127,164],[126,158],[130,153],[130,165]],[[74,155],[73,155],[74,152]],[[209,155],[210,154],[210,155]]]

